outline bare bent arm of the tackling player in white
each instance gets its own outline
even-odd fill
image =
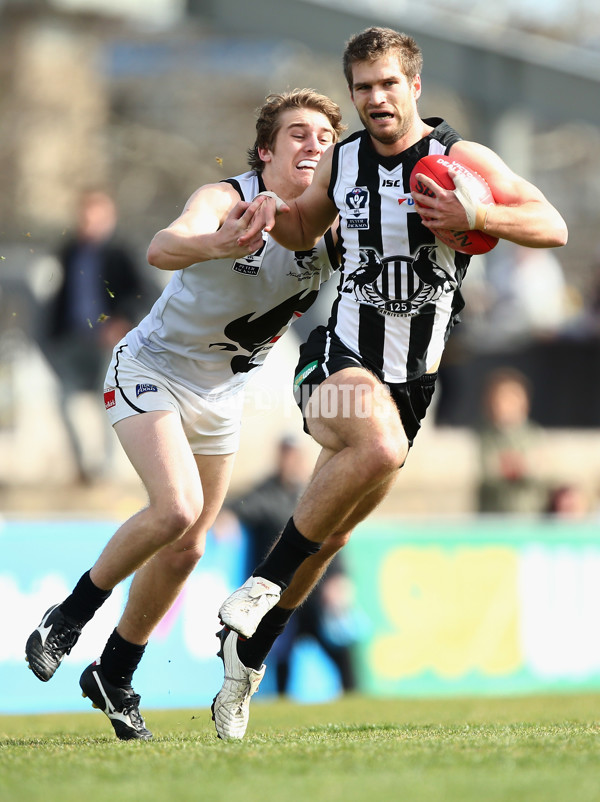
[[[227,183],[196,190],[183,212],[152,239],[147,259],[161,270],[181,270],[210,259],[247,256],[262,245],[262,235],[240,245],[241,218],[248,203]]]

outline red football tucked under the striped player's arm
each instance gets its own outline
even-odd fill
[[[477,197],[481,203],[494,203],[494,196],[492,190],[489,188],[487,181],[476,173],[470,170],[464,164],[457,162],[450,156],[431,155],[424,156],[416,163],[414,170],[410,176],[410,190],[411,192],[421,192],[424,195],[431,195],[431,191],[420,181],[417,181],[417,173],[422,173],[428,178],[432,178],[437,184],[444,189],[454,189],[454,182],[448,175],[449,168],[455,172],[461,172],[468,178],[471,187],[471,194]],[[433,229],[432,229],[433,230]],[[460,253],[469,253],[471,255],[479,253],[488,253],[492,248],[498,244],[498,237],[492,237],[491,234],[486,234],[485,231],[450,231],[449,229],[437,229],[433,232],[435,236]]]

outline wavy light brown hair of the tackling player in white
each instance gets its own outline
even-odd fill
[[[320,111],[333,128],[333,141],[337,142],[340,134],[346,130],[342,124],[342,112],[337,103],[314,89],[294,89],[291,92],[268,95],[257,111],[256,141],[248,148],[248,164],[251,169],[262,172],[264,162],[258,155],[259,148],[273,150],[273,145],[281,128],[281,114],[288,109],[314,109]]]

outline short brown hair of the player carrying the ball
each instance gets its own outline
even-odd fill
[[[346,42],[344,48],[344,75],[352,89],[352,65],[357,61],[375,61],[388,53],[395,53],[402,65],[402,70],[409,81],[419,75],[423,69],[421,48],[406,33],[399,33],[393,28],[366,28],[355,34]]]

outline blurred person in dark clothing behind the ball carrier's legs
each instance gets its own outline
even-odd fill
[[[309,474],[306,455],[300,445],[293,437],[284,437],[277,446],[274,472],[245,495],[227,502],[214,531],[219,536],[232,524],[241,524],[248,538],[247,572],[264,559],[281,534]],[[228,518],[232,514],[233,521]],[[289,691],[293,647],[305,636],[314,638],[334,662],[343,690],[355,689],[352,646],[360,636],[361,627],[353,592],[341,556],[337,555],[269,653],[267,665],[275,667],[279,694]]]

